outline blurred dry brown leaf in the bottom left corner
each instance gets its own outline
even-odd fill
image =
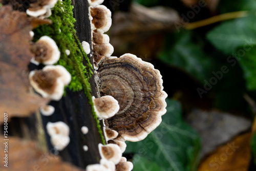
[[[0,137],[5,139],[3,136]],[[3,158],[0,170],[40,170],[40,171],[80,171],[82,169],[63,162],[60,157],[44,153],[36,148],[34,141],[23,140],[16,137],[9,137],[8,153],[4,152],[5,144],[1,143],[0,156],[5,157],[8,154],[8,167],[4,166]],[[4,159],[5,160],[5,159]]]

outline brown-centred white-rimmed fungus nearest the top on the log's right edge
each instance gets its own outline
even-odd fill
[[[107,32],[112,24],[111,11],[103,5],[98,5],[95,8],[90,7],[92,16],[92,30],[98,30],[100,33]]]

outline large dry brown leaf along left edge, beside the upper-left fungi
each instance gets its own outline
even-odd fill
[[[24,12],[0,8],[0,123],[4,112],[9,118],[28,116],[49,101],[29,94],[28,65],[33,57],[29,32],[35,23],[40,22]]]

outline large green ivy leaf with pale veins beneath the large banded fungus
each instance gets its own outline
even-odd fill
[[[180,103],[166,101],[167,113],[162,116],[162,123],[144,140],[127,142],[126,153],[135,153],[154,161],[164,170],[196,170],[199,135],[183,121]],[[134,162],[137,162],[136,159]]]

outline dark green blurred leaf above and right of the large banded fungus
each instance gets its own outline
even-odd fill
[[[185,70],[199,82],[212,77],[217,62],[203,52],[204,42],[193,41],[190,31],[176,33],[176,37],[167,35],[164,50],[159,59],[170,66]]]

